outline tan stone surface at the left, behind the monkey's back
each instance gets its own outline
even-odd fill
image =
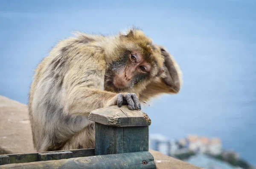
[[[0,152],[35,152],[25,104],[0,96],[0,117]]]

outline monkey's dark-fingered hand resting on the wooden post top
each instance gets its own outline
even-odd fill
[[[141,110],[140,101],[135,93],[126,93],[117,95],[117,106],[128,105],[130,110]]]

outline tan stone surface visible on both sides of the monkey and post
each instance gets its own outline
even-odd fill
[[[15,100],[0,96],[0,154],[35,152],[28,108]],[[200,169],[192,164],[150,150],[157,169]]]

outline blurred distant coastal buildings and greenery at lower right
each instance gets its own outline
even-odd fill
[[[180,140],[168,140],[160,134],[150,135],[150,149],[160,151],[171,157],[187,161],[199,167],[217,169],[255,169],[239,154],[222,148],[217,137],[199,137],[188,135]],[[207,161],[204,163],[204,161]],[[210,161],[210,162],[209,162]],[[202,166],[203,165],[203,166]]]

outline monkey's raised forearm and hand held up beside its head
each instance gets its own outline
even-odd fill
[[[173,92],[177,93],[180,91],[180,79],[178,74],[179,68],[177,67],[175,60],[173,60],[169,52],[167,52],[166,48],[160,45],[159,47],[165,58],[163,67],[164,72],[161,75],[161,79],[173,90]]]

